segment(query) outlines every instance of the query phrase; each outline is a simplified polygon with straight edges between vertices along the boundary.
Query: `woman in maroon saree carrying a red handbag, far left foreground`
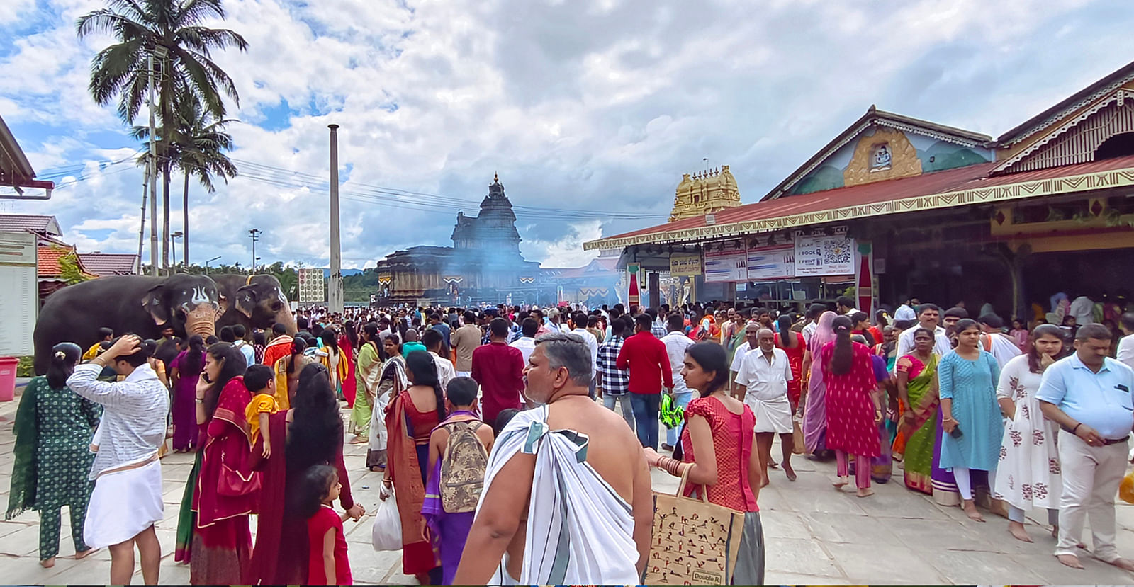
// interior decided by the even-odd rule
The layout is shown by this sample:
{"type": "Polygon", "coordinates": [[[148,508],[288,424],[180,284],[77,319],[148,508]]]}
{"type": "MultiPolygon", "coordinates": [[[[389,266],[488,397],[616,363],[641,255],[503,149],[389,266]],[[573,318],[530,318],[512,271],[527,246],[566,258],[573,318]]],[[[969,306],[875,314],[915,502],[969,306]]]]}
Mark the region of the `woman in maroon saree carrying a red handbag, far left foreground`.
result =
{"type": "Polygon", "coordinates": [[[209,347],[197,382],[201,469],[193,492],[196,513],[189,582],[240,582],[252,554],[248,514],[255,509],[260,475],[248,468],[252,394],[244,385],[244,354],[228,342],[209,347]]]}

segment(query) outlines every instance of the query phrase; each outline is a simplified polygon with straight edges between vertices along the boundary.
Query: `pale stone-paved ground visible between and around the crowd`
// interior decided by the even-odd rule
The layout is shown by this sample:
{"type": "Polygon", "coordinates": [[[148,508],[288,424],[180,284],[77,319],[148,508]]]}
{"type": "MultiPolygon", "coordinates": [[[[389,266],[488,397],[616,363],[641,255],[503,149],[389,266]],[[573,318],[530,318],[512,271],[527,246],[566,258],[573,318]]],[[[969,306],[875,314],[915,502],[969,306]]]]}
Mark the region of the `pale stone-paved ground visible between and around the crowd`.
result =
{"type": "MultiPolygon", "coordinates": [[[[0,504],[8,503],[12,463],[12,418],[16,402],[0,403],[0,504]]],[[[778,448],[775,451],[778,453],[778,448]]],[[[355,499],[367,512],[379,503],[380,474],[364,469],[365,449],[348,445],[347,467],[355,499]]],[[[1060,565],[1051,555],[1055,541],[1039,526],[1029,525],[1034,544],[1013,539],[1007,521],[989,517],[970,521],[959,508],[941,508],[921,494],[906,491],[899,476],[875,485],[875,495],[857,499],[839,493],[829,483],[832,463],[794,459],[798,480],[788,483],[773,471],[772,484],[760,494],[767,544],[769,584],[1131,584],[1134,576],[1091,559],[1086,570],[1060,565]]],[[[172,454],[162,460],[166,519],[158,526],[162,546],[161,582],[187,584],[188,568],[174,562],[177,508],[192,459],[172,454]]],[[[676,479],[654,471],[654,490],[674,492],[676,479]]],[[[1119,502],[1118,546],[1134,556],[1134,505],[1119,502]]],[[[53,569],[37,564],[37,514],[27,512],[0,521],[0,582],[81,584],[109,580],[110,555],[103,550],[74,560],[67,516],[64,542],[53,569]]],[[[1046,518],[1043,518],[1046,519],[1046,518]]],[[[358,584],[414,584],[401,575],[400,553],[374,552],[370,545],[371,516],[346,522],[350,567],[358,584]]],[[[253,530],[254,531],[254,530],[253,530]]],[[[135,582],[141,582],[141,572],[135,582]]]]}

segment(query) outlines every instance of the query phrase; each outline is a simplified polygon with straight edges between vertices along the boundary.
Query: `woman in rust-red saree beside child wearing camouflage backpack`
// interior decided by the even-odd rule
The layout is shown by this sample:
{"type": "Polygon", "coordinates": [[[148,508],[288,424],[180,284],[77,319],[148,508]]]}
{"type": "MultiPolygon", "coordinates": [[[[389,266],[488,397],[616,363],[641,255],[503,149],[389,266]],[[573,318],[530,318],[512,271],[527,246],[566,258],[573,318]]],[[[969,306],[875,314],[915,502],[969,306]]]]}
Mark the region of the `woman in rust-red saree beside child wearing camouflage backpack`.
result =
{"type": "MultiPolygon", "coordinates": [[[[429,465],[429,439],[445,419],[445,395],[438,382],[433,356],[415,350],[406,356],[409,389],[398,394],[386,412],[389,434],[384,490],[393,487],[401,518],[401,571],[417,577],[422,585],[440,585],[442,575],[433,546],[425,537],[425,474],[429,465]]],[[[383,491],[381,499],[387,497],[383,491]]]]}

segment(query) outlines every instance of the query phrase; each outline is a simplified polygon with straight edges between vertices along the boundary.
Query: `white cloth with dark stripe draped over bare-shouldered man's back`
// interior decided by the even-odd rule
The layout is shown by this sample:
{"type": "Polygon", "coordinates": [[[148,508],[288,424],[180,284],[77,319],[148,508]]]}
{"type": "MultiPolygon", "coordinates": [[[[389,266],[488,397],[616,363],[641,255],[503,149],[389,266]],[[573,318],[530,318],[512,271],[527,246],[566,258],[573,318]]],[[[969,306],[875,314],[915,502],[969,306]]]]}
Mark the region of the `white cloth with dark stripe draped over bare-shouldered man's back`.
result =
{"type": "MultiPolygon", "coordinates": [[[[489,456],[477,511],[513,456],[535,454],[518,584],[638,584],[631,504],[586,463],[586,435],[550,431],[547,418],[547,406],[521,411],[500,433],[489,456]]],[[[501,560],[489,585],[515,582],[501,560]]]]}

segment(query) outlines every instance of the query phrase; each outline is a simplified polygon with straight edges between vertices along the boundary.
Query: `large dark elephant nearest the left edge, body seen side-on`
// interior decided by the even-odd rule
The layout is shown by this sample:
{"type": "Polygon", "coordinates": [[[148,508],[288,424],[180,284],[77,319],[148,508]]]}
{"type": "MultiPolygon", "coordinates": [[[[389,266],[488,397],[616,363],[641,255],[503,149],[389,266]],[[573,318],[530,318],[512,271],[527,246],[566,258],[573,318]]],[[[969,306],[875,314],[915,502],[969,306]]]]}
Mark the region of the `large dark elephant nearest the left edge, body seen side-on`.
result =
{"type": "Polygon", "coordinates": [[[84,281],[48,296],[33,334],[35,374],[51,363],[51,347],[75,342],[84,350],[99,341],[99,329],[159,339],[171,327],[178,337],[215,332],[220,289],[208,275],[166,278],[116,275],[84,281]]]}

